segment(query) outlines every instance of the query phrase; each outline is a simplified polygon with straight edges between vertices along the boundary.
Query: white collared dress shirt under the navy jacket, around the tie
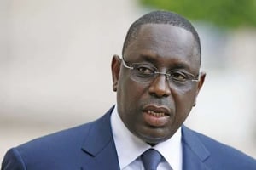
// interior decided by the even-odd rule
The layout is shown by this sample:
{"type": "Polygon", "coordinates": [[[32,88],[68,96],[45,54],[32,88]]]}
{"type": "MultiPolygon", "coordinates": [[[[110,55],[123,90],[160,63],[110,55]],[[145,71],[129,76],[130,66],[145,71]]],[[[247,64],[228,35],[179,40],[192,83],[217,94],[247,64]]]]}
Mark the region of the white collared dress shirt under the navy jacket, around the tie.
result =
{"type": "Polygon", "coordinates": [[[121,170],[144,170],[140,156],[149,148],[158,150],[164,157],[164,161],[161,161],[157,168],[158,170],[182,170],[181,128],[171,139],[152,147],[138,139],[125,127],[116,106],[111,115],[111,127],[121,170]]]}

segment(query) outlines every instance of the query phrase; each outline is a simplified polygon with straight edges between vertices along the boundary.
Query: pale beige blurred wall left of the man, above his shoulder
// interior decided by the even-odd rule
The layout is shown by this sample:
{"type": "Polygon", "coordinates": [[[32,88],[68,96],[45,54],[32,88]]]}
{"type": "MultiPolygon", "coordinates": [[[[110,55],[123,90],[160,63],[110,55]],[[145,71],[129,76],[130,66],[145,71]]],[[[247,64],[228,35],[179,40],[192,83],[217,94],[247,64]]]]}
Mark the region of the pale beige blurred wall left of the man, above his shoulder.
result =
{"type": "Polygon", "coordinates": [[[115,103],[110,72],[139,15],[131,0],[0,1],[0,160],[115,103]]]}

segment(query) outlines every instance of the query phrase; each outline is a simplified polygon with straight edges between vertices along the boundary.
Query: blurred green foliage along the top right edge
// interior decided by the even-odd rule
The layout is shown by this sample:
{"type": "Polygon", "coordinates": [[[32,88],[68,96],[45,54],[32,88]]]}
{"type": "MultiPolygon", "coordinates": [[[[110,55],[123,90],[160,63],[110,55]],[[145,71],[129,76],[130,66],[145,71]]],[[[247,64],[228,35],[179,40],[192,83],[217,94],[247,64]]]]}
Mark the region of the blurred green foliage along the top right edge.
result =
{"type": "Polygon", "coordinates": [[[171,10],[190,20],[225,28],[256,27],[256,0],[139,0],[149,8],[171,10]]]}

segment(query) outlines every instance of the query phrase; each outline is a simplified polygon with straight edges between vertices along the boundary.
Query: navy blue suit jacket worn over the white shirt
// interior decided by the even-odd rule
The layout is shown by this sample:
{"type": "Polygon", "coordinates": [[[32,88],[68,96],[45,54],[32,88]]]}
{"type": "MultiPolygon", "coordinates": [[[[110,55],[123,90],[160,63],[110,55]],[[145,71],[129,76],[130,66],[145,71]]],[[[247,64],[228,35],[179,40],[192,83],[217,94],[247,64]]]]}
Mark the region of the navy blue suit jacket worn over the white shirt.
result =
{"type": "MultiPolygon", "coordinates": [[[[111,112],[95,122],[34,139],[9,150],[1,169],[119,170],[110,126],[111,112]]],[[[256,169],[256,160],[252,157],[184,126],[182,143],[183,170],[256,169]]]]}

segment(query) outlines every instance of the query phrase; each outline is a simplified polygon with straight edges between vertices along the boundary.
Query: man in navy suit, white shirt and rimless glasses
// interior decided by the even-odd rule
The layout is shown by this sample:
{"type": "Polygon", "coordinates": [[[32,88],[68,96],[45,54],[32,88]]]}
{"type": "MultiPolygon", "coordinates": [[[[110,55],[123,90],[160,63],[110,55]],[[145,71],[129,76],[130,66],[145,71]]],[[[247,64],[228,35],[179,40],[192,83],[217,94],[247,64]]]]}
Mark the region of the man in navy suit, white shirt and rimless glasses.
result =
{"type": "Polygon", "coordinates": [[[122,58],[113,56],[117,105],[95,122],[9,150],[2,169],[256,169],[252,157],[183,126],[206,77],[200,66],[200,39],[188,20],[143,15],[122,58]]]}

